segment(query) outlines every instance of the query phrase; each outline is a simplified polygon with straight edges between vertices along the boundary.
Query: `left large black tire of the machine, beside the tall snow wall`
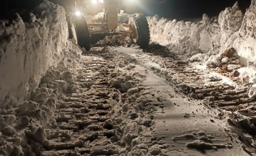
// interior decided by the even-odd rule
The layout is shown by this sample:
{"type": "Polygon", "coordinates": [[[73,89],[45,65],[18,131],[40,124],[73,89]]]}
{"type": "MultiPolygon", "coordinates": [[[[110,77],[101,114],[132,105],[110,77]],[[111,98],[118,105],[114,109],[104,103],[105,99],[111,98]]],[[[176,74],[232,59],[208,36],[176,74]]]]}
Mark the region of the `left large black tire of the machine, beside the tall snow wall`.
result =
{"type": "Polygon", "coordinates": [[[91,35],[84,15],[75,16],[73,23],[75,25],[77,44],[89,51],[91,49],[91,35]]]}

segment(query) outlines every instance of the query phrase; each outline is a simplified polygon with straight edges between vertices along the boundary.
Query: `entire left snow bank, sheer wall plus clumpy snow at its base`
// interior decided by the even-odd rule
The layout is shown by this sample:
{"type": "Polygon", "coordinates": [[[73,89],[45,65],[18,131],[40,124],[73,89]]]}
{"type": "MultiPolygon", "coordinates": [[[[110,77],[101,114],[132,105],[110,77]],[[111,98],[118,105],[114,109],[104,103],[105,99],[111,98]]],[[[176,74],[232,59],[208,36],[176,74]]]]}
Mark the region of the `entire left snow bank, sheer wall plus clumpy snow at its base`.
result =
{"type": "Polygon", "coordinates": [[[77,71],[82,51],[68,41],[64,9],[44,1],[36,12],[39,18],[30,14],[29,23],[16,14],[8,26],[0,25],[1,156],[45,151],[60,99],[90,86],[73,83],[86,71],[77,71]]]}

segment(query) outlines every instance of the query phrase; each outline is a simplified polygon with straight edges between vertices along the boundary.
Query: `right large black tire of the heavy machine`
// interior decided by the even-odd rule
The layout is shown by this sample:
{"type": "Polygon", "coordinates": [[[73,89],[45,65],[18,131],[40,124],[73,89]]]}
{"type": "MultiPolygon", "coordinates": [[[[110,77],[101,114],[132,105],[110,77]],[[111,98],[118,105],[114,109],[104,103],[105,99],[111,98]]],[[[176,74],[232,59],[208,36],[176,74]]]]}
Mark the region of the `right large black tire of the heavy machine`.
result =
{"type": "MultiPolygon", "coordinates": [[[[140,46],[140,48],[147,48],[150,41],[149,25],[147,18],[142,13],[136,13],[130,16],[129,24],[135,26],[137,32],[136,37],[132,37],[132,40],[140,46]]],[[[136,33],[135,32],[135,33],[136,33]]]]}

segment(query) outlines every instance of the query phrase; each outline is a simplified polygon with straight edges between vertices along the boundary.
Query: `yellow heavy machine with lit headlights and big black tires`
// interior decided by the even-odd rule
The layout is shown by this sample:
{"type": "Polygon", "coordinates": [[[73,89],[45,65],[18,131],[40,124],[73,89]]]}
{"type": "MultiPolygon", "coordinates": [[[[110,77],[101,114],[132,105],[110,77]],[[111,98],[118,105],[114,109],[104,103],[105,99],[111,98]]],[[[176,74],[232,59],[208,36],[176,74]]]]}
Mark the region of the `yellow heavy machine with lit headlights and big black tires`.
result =
{"type": "Polygon", "coordinates": [[[146,48],[150,40],[146,17],[144,14],[136,13],[130,16],[128,23],[119,24],[120,3],[120,0],[75,0],[75,9],[69,9],[67,13],[69,38],[75,39],[79,46],[89,51],[92,34],[127,34],[140,48],[146,48]],[[102,11],[102,19],[87,23],[85,15],[94,15],[102,11]]]}

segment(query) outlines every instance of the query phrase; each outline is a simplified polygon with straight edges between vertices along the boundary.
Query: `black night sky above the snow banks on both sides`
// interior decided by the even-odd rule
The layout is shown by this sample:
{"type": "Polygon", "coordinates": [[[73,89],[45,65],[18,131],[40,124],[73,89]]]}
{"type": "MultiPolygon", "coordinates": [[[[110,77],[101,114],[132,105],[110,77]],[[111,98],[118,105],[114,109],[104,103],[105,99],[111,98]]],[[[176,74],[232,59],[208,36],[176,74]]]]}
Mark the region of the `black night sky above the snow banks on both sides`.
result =
{"type": "MultiPolygon", "coordinates": [[[[1,2],[16,4],[16,6],[35,5],[42,0],[1,0],[1,2]],[[19,3],[15,3],[19,2],[19,3]]],[[[142,12],[153,16],[158,14],[165,18],[202,18],[204,13],[211,17],[218,16],[226,7],[232,7],[237,0],[121,0],[122,8],[126,13],[142,12]],[[160,3],[163,2],[164,3],[160,3]]],[[[2,3],[3,4],[3,3],[2,3]]],[[[238,0],[240,9],[245,12],[251,0],[238,0]]],[[[11,8],[9,6],[9,8],[11,8]]],[[[5,5],[0,5],[0,16],[5,13],[5,5]]],[[[0,17],[1,18],[1,17],[0,17]]]]}

